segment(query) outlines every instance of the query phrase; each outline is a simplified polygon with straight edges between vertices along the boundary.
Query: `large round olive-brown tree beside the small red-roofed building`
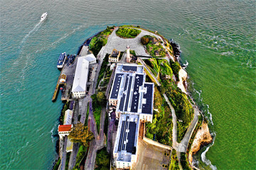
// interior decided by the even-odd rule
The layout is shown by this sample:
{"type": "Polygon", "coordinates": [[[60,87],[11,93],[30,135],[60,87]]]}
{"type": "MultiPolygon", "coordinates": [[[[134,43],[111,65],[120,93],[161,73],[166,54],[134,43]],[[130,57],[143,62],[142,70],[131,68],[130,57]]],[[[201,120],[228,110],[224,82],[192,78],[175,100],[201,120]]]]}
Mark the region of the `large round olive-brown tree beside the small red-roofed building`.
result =
{"type": "Polygon", "coordinates": [[[88,146],[88,142],[93,140],[94,135],[88,129],[87,126],[82,125],[82,123],[76,124],[73,128],[71,128],[70,134],[68,135],[72,142],[80,142],[85,147],[88,146]]]}

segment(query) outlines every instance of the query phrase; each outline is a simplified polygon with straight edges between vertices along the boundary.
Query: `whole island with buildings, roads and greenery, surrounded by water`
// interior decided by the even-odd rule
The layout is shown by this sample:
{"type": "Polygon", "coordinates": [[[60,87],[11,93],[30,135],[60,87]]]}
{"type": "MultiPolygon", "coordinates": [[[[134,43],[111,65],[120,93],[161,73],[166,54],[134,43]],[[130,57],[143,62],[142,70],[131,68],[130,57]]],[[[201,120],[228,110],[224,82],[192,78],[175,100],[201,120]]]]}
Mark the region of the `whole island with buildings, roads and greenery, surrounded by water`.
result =
{"type": "Polygon", "coordinates": [[[212,142],[186,91],[174,40],[139,26],[112,26],[60,54],[64,106],[53,169],[197,169],[212,142]]]}

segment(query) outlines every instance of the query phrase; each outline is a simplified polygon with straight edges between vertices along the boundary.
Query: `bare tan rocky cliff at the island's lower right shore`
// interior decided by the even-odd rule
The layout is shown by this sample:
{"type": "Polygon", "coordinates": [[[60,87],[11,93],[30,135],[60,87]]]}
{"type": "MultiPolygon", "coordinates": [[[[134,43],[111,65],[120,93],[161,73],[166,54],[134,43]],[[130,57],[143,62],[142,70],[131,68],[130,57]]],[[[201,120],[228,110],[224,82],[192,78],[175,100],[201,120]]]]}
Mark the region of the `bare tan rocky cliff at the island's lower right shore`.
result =
{"type": "Polygon", "coordinates": [[[198,132],[196,132],[196,137],[193,140],[191,150],[188,154],[188,160],[191,165],[193,164],[193,154],[196,154],[201,147],[208,145],[212,141],[213,137],[210,135],[208,125],[207,123],[203,123],[198,132]]]}

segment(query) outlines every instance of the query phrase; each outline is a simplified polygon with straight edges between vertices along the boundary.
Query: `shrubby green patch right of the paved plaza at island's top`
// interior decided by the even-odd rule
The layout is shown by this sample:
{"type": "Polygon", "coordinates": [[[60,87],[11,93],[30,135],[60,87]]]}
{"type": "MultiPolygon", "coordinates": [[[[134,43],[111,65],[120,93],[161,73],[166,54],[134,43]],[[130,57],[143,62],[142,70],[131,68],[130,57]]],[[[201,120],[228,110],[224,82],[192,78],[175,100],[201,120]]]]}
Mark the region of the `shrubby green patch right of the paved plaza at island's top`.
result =
{"type": "Polygon", "coordinates": [[[146,50],[152,57],[166,57],[166,51],[161,45],[161,40],[151,35],[144,35],[141,38],[141,42],[146,45],[146,50]]]}

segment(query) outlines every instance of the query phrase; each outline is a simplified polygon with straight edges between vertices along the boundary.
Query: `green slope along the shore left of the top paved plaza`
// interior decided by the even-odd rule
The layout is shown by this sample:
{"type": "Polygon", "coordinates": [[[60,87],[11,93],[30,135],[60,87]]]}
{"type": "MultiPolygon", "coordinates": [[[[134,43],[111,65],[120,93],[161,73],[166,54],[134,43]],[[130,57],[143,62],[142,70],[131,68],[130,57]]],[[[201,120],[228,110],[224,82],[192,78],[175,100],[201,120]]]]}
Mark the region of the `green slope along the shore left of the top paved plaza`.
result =
{"type": "Polygon", "coordinates": [[[107,26],[107,29],[103,30],[97,36],[92,38],[89,47],[90,50],[92,50],[93,55],[97,56],[97,54],[100,52],[100,49],[107,44],[107,38],[113,32],[113,30],[114,26],[107,26]]]}

